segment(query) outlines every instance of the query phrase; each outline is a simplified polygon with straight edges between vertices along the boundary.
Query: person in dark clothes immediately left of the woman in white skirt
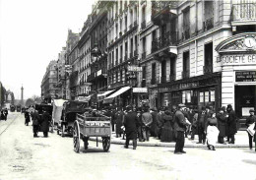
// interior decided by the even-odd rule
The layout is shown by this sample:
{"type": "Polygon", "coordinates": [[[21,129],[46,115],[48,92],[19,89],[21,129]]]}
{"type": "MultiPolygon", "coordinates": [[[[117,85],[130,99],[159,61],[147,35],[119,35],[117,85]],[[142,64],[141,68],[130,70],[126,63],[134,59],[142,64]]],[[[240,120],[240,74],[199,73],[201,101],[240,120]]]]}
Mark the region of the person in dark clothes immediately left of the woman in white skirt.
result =
{"type": "Polygon", "coordinates": [[[198,115],[198,123],[197,123],[197,133],[199,142],[197,144],[206,143],[206,134],[205,134],[205,118],[206,118],[206,108],[202,107],[202,111],[198,115]]]}

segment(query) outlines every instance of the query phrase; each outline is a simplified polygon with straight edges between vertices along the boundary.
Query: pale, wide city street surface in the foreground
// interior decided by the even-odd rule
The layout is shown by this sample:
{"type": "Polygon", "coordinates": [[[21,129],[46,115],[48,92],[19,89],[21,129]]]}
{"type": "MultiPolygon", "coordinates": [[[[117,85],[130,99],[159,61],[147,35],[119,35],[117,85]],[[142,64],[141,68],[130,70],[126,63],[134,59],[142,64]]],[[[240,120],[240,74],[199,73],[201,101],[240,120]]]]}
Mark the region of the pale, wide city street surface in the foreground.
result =
{"type": "MultiPolygon", "coordinates": [[[[73,179],[256,179],[256,152],[248,149],[185,149],[111,145],[104,152],[99,143],[89,150],[73,150],[73,139],[54,132],[49,138],[32,138],[32,123],[24,115],[9,113],[0,121],[0,180],[73,179]]],[[[81,141],[81,145],[82,145],[81,141]]]]}

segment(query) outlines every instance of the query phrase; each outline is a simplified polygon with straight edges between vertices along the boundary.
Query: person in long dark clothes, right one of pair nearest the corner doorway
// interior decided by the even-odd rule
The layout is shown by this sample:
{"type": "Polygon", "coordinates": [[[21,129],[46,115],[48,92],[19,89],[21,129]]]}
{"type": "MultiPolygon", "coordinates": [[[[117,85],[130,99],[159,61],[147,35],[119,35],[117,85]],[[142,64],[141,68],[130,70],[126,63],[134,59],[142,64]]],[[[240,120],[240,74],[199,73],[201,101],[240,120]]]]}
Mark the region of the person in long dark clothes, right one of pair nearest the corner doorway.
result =
{"type": "Polygon", "coordinates": [[[232,109],[232,105],[228,104],[226,107],[226,112],[227,112],[227,120],[226,120],[226,125],[227,125],[227,136],[231,139],[228,144],[234,144],[234,135],[236,134],[236,118],[235,118],[235,113],[232,109]]]}

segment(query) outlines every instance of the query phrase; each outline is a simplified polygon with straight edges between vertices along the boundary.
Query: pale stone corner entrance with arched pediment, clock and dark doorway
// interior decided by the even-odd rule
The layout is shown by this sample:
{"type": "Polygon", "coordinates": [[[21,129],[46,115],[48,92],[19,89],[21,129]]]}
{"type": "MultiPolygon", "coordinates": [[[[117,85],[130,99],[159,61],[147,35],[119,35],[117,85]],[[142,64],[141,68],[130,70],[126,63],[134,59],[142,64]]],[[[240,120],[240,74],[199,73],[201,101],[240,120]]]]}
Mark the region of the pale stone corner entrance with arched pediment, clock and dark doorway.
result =
{"type": "Polygon", "coordinates": [[[216,50],[222,61],[222,104],[231,104],[244,126],[249,109],[256,109],[256,33],[233,35],[216,50]]]}

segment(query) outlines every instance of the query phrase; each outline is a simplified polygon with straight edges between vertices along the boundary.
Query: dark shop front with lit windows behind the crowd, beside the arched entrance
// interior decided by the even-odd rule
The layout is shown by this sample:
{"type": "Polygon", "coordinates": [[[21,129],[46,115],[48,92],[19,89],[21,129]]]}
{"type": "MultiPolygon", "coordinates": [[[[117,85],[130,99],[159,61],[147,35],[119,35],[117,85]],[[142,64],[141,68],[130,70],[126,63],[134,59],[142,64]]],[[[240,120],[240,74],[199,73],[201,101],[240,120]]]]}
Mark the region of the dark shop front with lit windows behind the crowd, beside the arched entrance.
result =
{"type": "Polygon", "coordinates": [[[221,73],[202,75],[187,80],[178,80],[159,85],[160,106],[179,103],[193,109],[209,105],[213,110],[221,106],[221,73]]]}

